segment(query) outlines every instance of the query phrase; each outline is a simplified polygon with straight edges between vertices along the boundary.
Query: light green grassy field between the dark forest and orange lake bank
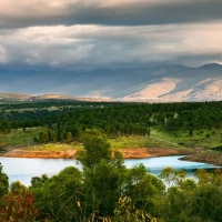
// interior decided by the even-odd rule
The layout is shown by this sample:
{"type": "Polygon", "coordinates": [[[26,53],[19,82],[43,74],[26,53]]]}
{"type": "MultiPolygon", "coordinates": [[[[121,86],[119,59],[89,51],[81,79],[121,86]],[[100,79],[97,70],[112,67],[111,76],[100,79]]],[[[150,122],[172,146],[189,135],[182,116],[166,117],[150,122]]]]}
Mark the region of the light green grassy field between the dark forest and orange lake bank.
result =
{"type": "MultiPolygon", "coordinates": [[[[38,138],[39,132],[44,128],[19,129],[12,130],[10,133],[0,134],[1,147],[23,145],[26,149],[39,150],[65,150],[80,149],[82,143],[73,141],[70,144],[49,143],[37,145],[33,142],[38,138]]],[[[158,129],[151,129],[151,135],[129,135],[109,139],[112,149],[124,148],[214,148],[222,144],[222,131],[220,130],[202,130],[194,131],[190,137],[188,132],[167,133],[158,129]]]]}

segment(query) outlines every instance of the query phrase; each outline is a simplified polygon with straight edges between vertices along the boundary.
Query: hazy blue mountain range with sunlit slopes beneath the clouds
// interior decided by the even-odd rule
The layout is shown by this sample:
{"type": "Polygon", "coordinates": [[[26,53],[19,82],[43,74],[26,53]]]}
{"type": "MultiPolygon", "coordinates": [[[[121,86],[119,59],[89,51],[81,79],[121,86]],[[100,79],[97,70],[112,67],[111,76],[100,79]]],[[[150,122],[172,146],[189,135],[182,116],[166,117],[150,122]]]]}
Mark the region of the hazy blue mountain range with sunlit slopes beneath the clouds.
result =
{"type": "Polygon", "coordinates": [[[0,65],[0,97],[118,101],[211,101],[222,98],[222,65],[74,70],[0,65]]]}

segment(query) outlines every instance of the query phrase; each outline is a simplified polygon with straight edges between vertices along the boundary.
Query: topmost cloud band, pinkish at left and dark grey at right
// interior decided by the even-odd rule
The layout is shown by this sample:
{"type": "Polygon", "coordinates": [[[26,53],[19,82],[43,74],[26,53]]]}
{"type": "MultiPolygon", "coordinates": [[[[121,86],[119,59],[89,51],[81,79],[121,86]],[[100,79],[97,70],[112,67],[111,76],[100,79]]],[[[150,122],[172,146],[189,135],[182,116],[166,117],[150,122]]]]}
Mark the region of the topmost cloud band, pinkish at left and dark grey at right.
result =
{"type": "Polygon", "coordinates": [[[220,0],[0,0],[0,28],[150,26],[216,21],[220,0]]]}

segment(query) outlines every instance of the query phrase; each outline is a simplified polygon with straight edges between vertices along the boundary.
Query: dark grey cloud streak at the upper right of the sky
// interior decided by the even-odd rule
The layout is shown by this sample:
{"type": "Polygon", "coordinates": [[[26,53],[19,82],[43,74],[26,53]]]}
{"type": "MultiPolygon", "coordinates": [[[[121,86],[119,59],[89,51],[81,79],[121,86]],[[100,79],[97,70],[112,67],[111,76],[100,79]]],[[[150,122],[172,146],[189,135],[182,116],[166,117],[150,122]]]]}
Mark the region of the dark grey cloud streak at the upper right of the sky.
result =
{"type": "Polygon", "coordinates": [[[168,23],[190,23],[222,20],[222,1],[161,1],[130,3],[119,7],[80,8],[70,6],[63,20],[67,24],[93,23],[104,26],[148,26],[168,23]]]}

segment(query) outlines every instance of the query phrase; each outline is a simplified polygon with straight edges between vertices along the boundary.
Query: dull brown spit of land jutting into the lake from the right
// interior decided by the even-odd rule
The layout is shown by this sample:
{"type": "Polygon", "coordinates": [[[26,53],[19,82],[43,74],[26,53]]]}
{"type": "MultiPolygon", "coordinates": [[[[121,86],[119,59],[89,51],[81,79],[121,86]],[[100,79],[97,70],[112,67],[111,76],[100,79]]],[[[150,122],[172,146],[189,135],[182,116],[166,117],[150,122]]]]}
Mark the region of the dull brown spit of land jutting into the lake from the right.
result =
{"type": "Polygon", "coordinates": [[[215,165],[222,167],[222,153],[193,153],[190,155],[186,155],[184,158],[181,158],[181,160],[185,161],[193,161],[193,162],[203,162],[203,163],[210,163],[215,165]]]}

